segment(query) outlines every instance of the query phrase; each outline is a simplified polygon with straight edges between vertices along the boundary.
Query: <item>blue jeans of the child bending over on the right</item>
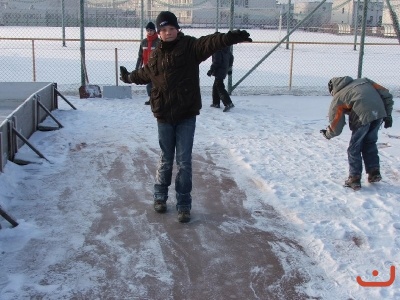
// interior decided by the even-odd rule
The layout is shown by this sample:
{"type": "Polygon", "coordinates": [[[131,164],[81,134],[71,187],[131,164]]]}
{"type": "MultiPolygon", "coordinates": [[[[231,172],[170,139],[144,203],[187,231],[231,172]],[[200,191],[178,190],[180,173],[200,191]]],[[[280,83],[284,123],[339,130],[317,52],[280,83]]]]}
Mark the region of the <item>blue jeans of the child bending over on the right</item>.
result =
{"type": "Polygon", "coordinates": [[[352,132],[349,148],[347,148],[350,176],[361,176],[363,160],[367,173],[374,169],[379,169],[376,142],[378,141],[378,130],[381,124],[382,119],[378,119],[352,132]]]}

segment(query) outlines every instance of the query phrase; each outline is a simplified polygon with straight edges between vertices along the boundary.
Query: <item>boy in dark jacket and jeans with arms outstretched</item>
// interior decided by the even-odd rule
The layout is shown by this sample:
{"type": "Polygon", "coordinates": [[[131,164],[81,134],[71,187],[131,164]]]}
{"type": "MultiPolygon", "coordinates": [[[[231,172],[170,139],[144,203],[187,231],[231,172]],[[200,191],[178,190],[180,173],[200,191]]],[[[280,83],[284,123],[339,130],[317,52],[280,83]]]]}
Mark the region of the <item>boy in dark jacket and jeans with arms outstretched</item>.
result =
{"type": "Polygon", "coordinates": [[[176,16],[161,12],[156,19],[160,44],[150,54],[147,65],[129,73],[121,66],[126,83],[153,83],[150,105],[157,118],[160,160],[154,184],[154,210],[167,210],[168,188],[176,156],[176,209],[179,222],[190,221],[192,207],[192,149],[196,116],[202,107],[199,65],[214,52],[227,46],[251,42],[245,30],[214,33],[200,38],[179,31],[176,16]]]}

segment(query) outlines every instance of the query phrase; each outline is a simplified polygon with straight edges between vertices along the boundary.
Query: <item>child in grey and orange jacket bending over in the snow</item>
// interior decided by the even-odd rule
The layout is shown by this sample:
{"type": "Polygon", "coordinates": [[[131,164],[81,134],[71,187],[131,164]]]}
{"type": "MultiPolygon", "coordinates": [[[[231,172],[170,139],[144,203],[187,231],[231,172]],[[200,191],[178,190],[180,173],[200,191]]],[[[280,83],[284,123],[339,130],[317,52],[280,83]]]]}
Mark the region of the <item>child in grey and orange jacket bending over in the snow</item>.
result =
{"type": "Polygon", "coordinates": [[[341,134],[348,115],[352,131],[347,149],[349,177],[346,187],[361,188],[362,163],[368,174],[368,182],[382,179],[380,173],[378,130],[392,127],[393,96],[389,91],[368,78],[353,79],[350,76],[335,77],[328,83],[333,96],[329,108],[329,126],[321,130],[325,138],[331,139],[341,134]]]}

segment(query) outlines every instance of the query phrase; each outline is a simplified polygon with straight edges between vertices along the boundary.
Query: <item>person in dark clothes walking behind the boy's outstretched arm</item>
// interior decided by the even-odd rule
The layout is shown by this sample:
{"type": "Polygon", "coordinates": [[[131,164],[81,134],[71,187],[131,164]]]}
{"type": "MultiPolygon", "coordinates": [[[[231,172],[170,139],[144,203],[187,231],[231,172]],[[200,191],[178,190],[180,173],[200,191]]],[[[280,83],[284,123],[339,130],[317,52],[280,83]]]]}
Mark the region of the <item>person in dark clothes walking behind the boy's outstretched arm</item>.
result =
{"type": "Polygon", "coordinates": [[[220,107],[220,100],[224,104],[224,112],[234,107],[231,97],[225,89],[224,79],[226,75],[232,74],[233,54],[230,47],[215,52],[212,55],[212,64],[207,72],[208,76],[214,76],[214,84],[212,90],[213,103],[211,107],[220,107]]]}

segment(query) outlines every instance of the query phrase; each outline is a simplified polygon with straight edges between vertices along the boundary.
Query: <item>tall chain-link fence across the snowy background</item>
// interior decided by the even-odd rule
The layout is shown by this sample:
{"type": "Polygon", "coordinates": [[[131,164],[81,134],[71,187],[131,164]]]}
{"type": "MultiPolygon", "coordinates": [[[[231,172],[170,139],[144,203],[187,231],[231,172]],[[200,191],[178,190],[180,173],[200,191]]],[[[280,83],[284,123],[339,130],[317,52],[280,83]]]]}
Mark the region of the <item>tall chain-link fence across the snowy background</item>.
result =
{"type": "MultiPolygon", "coordinates": [[[[134,69],[145,34],[143,24],[155,22],[160,11],[171,10],[186,35],[200,37],[230,28],[250,32],[253,43],[233,47],[235,63],[228,82],[234,95],[327,95],[331,77],[356,78],[361,70],[362,77],[372,78],[398,97],[399,41],[385,4],[367,2],[363,16],[362,2],[361,6],[348,0],[322,2],[292,1],[289,5],[268,0],[92,0],[83,2],[84,13],[80,14],[78,0],[3,0],[0,81],[56,82],[60,92],[77,95],[82,78],[83,16],[89,82],[123,85],[116,67],[134,69]],[[364,33],[363,18],[367,24],[364,33]],[[327,65],[327,56],[337,63],[327,65]]],[[[398,11],[400,1],[391,2],[398,11]]],[[[204,92],[210,92],[213,84],[206,76],[210,65],[209,59],[200,66],[204,92]]],[[[146,93],[145,86],[133,85],[132,91],[146,93]]]]}

